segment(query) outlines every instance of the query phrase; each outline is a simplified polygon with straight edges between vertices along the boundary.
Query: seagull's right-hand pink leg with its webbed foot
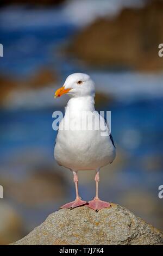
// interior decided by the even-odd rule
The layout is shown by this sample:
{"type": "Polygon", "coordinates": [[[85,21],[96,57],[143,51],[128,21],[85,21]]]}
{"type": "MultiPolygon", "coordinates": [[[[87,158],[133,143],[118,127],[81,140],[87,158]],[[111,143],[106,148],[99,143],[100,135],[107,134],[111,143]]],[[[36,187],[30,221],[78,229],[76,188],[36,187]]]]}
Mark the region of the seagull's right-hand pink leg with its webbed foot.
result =
{"type": "Polygon", "coordinates": [[[89,207],[97,212],[103,208],[109,208],[109,207],[111,207],[111,205],[108,202],[104,202],[104,201],[100,200],[98,197],[99,169],[96,171],[95,181],[96,181],[96,197],[92,201],[89,202],[87,207],[89,207]]]}

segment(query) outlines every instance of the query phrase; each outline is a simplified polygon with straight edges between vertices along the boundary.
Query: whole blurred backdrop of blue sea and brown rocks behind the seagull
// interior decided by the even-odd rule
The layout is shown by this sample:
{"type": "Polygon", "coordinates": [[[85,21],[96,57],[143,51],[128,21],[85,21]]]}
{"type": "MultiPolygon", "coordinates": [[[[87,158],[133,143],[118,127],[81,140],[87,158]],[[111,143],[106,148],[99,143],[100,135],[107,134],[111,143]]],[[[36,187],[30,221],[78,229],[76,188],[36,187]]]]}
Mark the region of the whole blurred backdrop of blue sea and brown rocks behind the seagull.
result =
{"type": "MultiPolygon", "coordinates": [[[[99,195],[163,230],[163,2],[1,1],[0,244],[28,234],[74,200],[72,173],[53,158],[54,100],[67,75],[96,82],[96,109],[111,111],[114,163],[99,195]]],[[[79,192],[95,196],[95,173],[79,172],[79,192]]]]}

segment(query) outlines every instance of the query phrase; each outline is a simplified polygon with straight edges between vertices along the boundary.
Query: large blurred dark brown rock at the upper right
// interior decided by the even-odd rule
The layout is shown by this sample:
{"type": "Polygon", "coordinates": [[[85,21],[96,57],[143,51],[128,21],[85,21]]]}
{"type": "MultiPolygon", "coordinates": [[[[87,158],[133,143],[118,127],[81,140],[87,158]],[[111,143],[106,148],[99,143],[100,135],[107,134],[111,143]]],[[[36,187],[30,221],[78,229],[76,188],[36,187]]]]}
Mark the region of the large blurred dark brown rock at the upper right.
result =
{"type": "Polygon", "coordinates": [[[123,9],[114,19],[98,19],[74,38],[70,52],[100,68],[162,70],[158,46],[163,42],[163,2],[147,3],[123,9]]]}

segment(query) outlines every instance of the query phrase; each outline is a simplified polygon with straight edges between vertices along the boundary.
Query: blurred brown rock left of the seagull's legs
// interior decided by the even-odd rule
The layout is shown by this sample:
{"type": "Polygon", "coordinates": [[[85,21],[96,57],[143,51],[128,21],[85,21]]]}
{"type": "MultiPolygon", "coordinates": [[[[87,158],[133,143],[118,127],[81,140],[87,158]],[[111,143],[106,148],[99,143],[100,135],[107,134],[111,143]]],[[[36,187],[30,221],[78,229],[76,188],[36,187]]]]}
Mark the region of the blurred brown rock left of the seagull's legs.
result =
{"type": "Polygon", "coordinates": [[[7,197],[26,206],[58,202],[66,196],[67,186],[62,174],[53,170],[34,172],[29,178],[6,182],[7,197]]]}

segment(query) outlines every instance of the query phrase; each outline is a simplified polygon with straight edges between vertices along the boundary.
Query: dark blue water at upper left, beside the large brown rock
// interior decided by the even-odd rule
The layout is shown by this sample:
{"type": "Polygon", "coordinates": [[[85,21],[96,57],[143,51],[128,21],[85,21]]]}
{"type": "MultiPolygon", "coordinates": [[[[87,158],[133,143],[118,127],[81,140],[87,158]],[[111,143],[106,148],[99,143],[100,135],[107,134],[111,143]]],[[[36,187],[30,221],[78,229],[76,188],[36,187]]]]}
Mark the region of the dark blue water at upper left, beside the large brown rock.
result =
{"type": "Polygon", "coordinates": [[[44,31],[1,31],[1,43],[4,46],[3,61],[0,62],[1,72],[12,75],[29,75],[40,66],[51,65],[55,70],[61,68],[55,47],[67,40],[74,33],[72,26],[59,26],[44,31]]]}

